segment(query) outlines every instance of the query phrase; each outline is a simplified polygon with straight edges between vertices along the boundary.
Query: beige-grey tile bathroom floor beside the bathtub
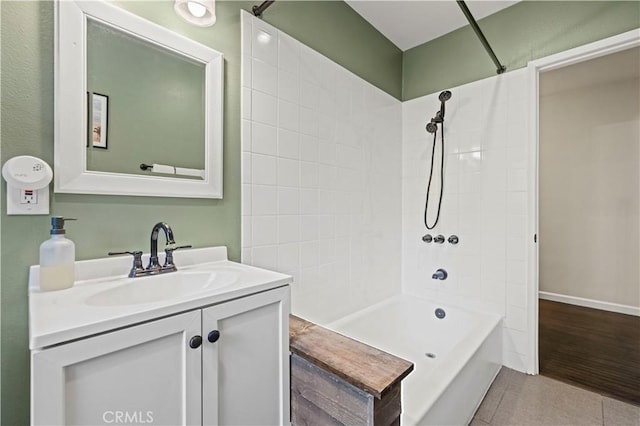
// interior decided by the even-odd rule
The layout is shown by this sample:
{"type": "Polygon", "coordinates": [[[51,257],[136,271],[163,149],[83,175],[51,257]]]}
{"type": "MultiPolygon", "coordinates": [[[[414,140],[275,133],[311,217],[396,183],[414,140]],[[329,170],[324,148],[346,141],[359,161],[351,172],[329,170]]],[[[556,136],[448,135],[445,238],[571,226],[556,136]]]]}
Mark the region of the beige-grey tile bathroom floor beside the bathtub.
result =
{"type": "Polygon", "coordinates": [[[640,426],[640,407],[502,367],[471,425],[640,426]]]}

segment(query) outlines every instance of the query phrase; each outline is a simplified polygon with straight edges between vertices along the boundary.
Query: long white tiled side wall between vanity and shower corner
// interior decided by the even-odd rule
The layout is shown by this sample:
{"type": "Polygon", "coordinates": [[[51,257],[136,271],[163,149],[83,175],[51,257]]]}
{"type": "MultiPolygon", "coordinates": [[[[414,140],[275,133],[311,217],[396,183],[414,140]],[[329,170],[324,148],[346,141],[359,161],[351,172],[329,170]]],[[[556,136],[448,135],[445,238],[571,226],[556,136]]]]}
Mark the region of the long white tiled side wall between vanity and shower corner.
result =
{"type": "Polygon", "coordinates": [[[400,292],[401,103],[242,14],[242,260],[328,322],[400,292]]]}

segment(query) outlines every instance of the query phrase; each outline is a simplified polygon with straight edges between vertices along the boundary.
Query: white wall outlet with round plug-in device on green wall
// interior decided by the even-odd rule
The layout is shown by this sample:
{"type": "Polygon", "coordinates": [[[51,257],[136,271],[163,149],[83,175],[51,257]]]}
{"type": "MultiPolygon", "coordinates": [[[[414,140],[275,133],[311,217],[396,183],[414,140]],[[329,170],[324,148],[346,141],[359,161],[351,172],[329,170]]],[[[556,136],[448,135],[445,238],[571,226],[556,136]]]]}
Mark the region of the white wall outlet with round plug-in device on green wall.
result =
{"type": "Polygon", "coordinates": [[[51,167],[30,155],[13,157],[2,166],[7,181],[7,214],[49,214],[51,167]]]}

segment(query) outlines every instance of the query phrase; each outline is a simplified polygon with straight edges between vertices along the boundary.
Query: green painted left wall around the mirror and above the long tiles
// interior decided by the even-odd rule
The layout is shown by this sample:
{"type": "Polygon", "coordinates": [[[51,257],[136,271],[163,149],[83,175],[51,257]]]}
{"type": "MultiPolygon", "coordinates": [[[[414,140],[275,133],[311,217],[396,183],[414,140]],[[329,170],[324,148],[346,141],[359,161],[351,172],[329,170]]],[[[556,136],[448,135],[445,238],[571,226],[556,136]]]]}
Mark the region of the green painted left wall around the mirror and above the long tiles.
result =
{"type": "MultiPolygon", "coordinates": [[[[78,218],[68,236],[78,259],[109,250],[148,250],[156,221],[171,224],[179,243],[226,245],[240,258],[240,10],[259,3],[216,2],[218,21],[196,28],[173,2],[121,2],[122,7],[207,44],[225,55],[224,199],[134,198],[52,194],[51,213],[78,218]]],[[[2,2],[1,161],[35,155],[53,162],[53,3],[2,2]]],[[[265,21],[307,43],[397,98],[402,53],[342,2],[278,1],[265,21]]],[[[5,183],[2,182],[5,189],[5,183]]],[[[4,199],[2,200],[4,205],[4,199]]],[[[3,425],[29,422],[28,266],[48,237],[48,217],[7,216],[1,226],[1,357],[3,425]]]]}

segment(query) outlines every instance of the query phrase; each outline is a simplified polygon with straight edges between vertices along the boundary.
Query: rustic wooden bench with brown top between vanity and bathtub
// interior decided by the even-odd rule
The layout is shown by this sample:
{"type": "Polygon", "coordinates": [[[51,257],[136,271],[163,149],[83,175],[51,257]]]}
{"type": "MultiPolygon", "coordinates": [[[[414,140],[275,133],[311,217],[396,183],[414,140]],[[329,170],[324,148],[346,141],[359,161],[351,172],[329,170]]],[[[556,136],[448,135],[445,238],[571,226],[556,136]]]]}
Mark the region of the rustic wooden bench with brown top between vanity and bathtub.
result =
{"type": "Polygon", "coordinates": [[[413,363],[290,315],[293,425],[400,424],[413,363]]]}

